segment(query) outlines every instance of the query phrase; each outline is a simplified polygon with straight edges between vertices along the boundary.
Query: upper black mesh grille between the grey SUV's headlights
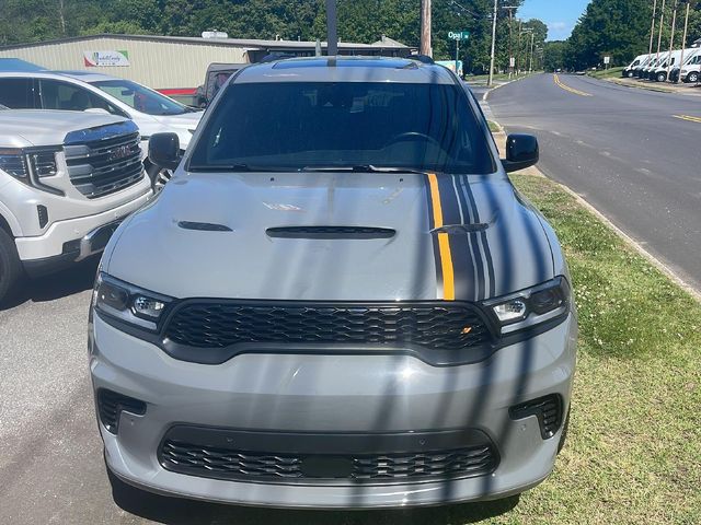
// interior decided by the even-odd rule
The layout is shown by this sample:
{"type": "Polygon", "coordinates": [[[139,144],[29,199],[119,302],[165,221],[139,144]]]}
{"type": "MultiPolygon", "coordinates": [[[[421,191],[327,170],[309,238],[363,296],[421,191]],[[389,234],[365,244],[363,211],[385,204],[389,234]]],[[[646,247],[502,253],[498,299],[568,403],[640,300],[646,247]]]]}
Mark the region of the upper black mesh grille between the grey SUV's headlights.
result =
{"type": "Polygon", "coordinates": [[[171,341],[196,348],[238,343],[420,346],[462,350],[491,340],[468,305],[285,305],[185,303],[165,328],[171,341]]]}

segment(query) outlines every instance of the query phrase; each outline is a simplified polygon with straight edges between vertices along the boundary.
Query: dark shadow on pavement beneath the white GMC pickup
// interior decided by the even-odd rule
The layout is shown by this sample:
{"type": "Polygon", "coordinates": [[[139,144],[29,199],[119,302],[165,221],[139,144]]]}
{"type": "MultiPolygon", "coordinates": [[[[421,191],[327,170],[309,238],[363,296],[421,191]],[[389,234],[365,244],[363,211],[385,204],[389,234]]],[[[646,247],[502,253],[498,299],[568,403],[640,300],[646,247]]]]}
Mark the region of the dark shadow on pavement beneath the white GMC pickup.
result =
{"type": "Polygon", "coordinates": [[[0,303],[0,312],[20,306],[28,301],[43,303],[90,290],[95,281],[99,264],[100,256],[94,256],[56,273],[38,279],[24,278],[12,295],[0,303]]]}

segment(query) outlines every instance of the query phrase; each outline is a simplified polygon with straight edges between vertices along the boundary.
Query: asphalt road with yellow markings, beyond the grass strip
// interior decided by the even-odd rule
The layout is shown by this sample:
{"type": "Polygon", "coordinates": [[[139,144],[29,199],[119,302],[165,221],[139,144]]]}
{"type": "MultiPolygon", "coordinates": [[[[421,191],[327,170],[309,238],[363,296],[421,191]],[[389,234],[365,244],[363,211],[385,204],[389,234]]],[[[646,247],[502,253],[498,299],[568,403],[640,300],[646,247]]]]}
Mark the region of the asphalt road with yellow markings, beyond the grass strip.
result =
{"type": "Polygon", "coordinates": [[[489,101],[508,132],[538,137],[549,177],[701,290],[701,97],[540,74],[489,101]]]}

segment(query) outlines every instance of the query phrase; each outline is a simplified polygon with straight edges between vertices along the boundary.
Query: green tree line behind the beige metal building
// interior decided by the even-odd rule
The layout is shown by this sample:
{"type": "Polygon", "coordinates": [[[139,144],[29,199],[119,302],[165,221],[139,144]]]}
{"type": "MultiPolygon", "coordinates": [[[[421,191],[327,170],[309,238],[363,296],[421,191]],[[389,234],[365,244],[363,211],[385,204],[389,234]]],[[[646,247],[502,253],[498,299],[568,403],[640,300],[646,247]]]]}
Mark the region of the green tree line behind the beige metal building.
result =
{"type": "MultiPolygon", "coordinates": [[[[518,8],[522,2],[507,3],[518,8]]],[[[369,44],[387,35],[418,47],[420,8],[421,0],[337,0],[338,37],[369,44]]],[[[433,0],[434,58],[453,59],[455,42],[448,33],[469,31],[459,59],[467,72],[486,72],[492,10],[492,0],[433,0]]],[[[0,46],[99,33],[199,36],[211,30],[233,38],[313,42],[325,38],[325,15],[324,0],[0,0],[0,46]]],[[[508,11],[498,10],[498,70],[508,68],[509,43],[527,69],[528,30],[533,31],[536,48],[547,38],[541,21],[517,18],[518,11],[509,22],[508,11]]]]}

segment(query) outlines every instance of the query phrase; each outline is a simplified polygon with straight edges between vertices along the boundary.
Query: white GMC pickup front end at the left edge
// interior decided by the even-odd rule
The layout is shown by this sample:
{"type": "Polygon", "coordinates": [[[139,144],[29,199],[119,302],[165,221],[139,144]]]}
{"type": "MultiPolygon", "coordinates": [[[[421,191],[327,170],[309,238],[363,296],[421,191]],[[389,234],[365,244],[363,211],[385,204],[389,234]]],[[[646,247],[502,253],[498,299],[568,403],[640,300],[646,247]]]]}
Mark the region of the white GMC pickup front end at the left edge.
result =
{"type": "Polygon", "coordinates": [[[0,302],[101,252],[151,198],[139,143],[124,117],[0,106],[0,302]]]}

